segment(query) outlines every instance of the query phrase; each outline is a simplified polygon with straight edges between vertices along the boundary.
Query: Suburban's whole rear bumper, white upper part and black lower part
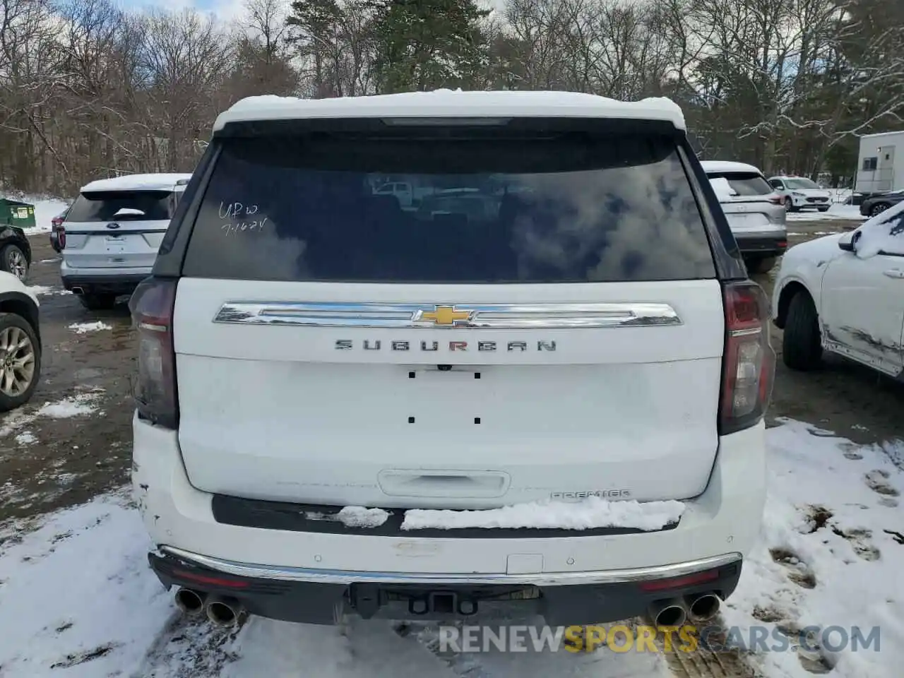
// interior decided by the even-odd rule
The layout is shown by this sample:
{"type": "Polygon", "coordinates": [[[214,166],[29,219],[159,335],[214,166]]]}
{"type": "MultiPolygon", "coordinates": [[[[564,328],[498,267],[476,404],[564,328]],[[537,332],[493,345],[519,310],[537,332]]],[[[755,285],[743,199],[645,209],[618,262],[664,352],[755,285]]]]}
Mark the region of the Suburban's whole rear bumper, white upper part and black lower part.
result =
{"type": "Polygon", "coordinates": [[[716,578],[696,588],[727,596],[737,582],[739,560],[758,538],[765,498],[760,423],[720,438],[706,490],[686,502],[676,527],[660,532],[494,539],[455,538],[452,532],[447,538],[423,538],[413,532],[396,537],[263,529],[217,522],[214,495],[189,482],[174,431],[139,419],[133,429],[136,501],[157,544],[151,560],[165,585],[229,593],[254,614],[295,621],[332,622],[340,602],[364,614],[367,608],[354,602],[353,589],[366,593],[371,585],[373,595],[399,603],[402,613],[405,595],[398,587],[413,587],[412,595],[453,587],[463,595],[498,598],[500,590],[536,586],[539,598],[522,596],[516,602],[539,606],[551,624],[560,613],[574,624],[643,612],[664,592],[643,590],[637,577],[662,579],[668,572],[717,567],[716,578]],[[192,579],[197,573],[201,579],[192,579]],[[230,578],[248,583],[222,583],[230,578]],[[273,598],[263,592],[268,587],[273,598]],[[315,609],[315,601],[323,607],[315,609]]]}

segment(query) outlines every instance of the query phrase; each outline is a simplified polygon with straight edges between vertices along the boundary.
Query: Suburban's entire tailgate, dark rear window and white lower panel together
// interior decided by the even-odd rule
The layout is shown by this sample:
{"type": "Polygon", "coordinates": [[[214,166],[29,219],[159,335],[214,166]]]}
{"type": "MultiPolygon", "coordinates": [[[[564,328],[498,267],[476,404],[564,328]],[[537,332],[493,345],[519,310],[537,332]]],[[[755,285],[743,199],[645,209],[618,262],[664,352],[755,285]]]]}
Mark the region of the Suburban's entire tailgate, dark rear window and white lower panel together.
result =
{"type": "Polygon", "coordinates": [[[720,282],[674,138],[638,125],[217,139],[174,308],[193,485],[449,508],[702,492],[720,282]],[[387,180],[444,207],[403,211],[372,194],[387,180]]]}

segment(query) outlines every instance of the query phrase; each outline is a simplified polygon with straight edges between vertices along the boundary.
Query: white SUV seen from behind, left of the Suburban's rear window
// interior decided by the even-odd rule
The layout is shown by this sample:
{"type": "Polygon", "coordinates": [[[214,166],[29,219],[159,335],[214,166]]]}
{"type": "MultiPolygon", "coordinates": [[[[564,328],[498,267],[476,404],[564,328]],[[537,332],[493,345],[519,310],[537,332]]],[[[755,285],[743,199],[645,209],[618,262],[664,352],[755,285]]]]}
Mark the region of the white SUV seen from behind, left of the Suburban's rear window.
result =
{"type": "Polygon", "coordinates": [[[151,274],[191,174],[130,174],[83,186],[57,228],[63,287],[110,308],[151,274]]]}

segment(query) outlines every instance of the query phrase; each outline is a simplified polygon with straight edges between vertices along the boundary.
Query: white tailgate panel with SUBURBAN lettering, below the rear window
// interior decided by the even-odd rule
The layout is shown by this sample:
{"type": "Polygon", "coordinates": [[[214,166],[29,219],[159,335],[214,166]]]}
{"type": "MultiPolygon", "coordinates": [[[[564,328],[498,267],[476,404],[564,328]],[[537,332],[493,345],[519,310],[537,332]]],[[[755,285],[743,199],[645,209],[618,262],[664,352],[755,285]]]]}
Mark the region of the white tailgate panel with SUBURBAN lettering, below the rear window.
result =
{"type": "Polygon", "coordinates": [[[223,324],[213,322],[221,307],[241,299],[427,307],[455,299],[468,307],[500,298],[485,286],[278,282],[258,283],[250,295],[231,281],[186,278],[174,325],[192,327],[175,335],[175,351],[179,440],[193,484],[252,498],[386,507],[702,492],[719,444],[718,282],[679,282],[667,292],[656,283],[505,291],[510,304],[665,304],[682,325],[395,329],[280,325],[260,316],[223,324]],[[338,341],[353,348],[337,350],[338,341]],[[422,342],[438,350],[420,350],[422,342]],[[450,342],[467,345],[450,351],[450,342]],[[477,350],[478,342],[496,350],[477,350]],[[538,342],[555,350],[537,350],[538,342]],[[403,345],[409,350],[392,350],[403,345]]]}

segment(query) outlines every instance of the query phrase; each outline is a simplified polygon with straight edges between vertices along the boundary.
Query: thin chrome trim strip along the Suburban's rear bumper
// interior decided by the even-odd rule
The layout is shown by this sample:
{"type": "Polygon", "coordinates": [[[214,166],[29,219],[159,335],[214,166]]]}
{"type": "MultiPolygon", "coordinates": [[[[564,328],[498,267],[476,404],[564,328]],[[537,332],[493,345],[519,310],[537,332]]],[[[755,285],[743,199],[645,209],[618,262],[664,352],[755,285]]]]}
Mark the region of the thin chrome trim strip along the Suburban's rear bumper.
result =
{"type": "Polygon", "coordinates": [[[533,586],[573,586],[579,584],[619,584],[650,579],[683,577],[702,570],[712,570],[741,561],[740,553],[725,553],[720,556],[654,565],[647,568],[627,568],[622,570],[596,570],[589,572],[537,572],[530,574],[458,574],[430,572],[364,572],[359,570],[315,570],[309,568],[286,568],[274,565],[252,565],[250,563],[221,560],[202,556],[191,551],[161,546],[163,556],[173,556],[189,563],[201,565],[224,574],[250,579],[278,579],[280,581],[307,581],[321,584],[354,584],[358,582],[385,584],[524,584],[533,586]]]}

